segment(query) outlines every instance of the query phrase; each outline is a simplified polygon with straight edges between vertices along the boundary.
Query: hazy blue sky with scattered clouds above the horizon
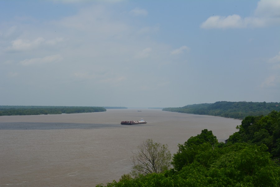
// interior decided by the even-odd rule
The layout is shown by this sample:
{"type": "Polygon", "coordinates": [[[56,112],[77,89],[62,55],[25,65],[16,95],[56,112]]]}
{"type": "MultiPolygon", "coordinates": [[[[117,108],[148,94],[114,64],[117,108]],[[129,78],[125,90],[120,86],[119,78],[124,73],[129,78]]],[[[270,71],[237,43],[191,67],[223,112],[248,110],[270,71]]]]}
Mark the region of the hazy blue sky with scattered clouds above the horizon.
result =
{"type": "Polygon", "coordinates": [[[0,105],[280,102],[279,0],[0,0],[0,105]]]}

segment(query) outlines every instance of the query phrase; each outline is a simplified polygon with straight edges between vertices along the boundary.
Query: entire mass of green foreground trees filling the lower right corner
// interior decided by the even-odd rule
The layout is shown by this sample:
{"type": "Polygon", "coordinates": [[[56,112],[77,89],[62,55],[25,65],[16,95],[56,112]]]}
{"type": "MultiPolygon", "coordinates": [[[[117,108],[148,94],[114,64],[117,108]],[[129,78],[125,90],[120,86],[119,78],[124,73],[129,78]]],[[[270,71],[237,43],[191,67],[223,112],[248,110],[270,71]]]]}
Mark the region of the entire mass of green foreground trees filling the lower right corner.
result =
{"type": "Polygon", "coordinates": [[[238,129],[226,144],[204,129],[178,145],[174,168],[135,178],[123,175],[107,187],[280,186],[280,166],[272,158],[280,150],[280,112],[248,116],[238,129]]]}

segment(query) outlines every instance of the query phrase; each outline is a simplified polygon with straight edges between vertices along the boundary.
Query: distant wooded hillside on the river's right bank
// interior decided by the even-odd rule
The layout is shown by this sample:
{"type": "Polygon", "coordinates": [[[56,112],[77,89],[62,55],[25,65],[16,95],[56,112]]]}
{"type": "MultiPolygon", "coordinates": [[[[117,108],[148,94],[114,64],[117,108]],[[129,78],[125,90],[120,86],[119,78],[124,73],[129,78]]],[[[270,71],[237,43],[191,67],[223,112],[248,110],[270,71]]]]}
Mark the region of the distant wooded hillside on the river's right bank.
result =
{"type": "Polygon", "coordinates": [[[244,119],[246,116],[267,115],[272,110],[280,110],[280,103],[266,102],[228,102],[186,105],[179,108],[164,108],[164,111],[201,114],[244,119]]]}

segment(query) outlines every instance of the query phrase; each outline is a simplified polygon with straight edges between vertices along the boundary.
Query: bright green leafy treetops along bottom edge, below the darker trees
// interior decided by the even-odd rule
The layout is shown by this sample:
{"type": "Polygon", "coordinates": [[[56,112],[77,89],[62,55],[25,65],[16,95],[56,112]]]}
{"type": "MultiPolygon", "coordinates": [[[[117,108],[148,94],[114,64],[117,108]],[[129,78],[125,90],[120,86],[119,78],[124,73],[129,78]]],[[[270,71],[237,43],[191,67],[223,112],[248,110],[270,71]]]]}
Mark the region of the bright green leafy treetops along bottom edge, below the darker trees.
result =
{"type": "Polygon", "coordinates": [[[264,144],[235,143],[216,146],[214,150],[210,143],[194,146],[197,153],[193,162],[180,171],[140,174],[133,179],[107,183],[107,187],[280,186],[280,167],[271,160],[264,144]]]}

